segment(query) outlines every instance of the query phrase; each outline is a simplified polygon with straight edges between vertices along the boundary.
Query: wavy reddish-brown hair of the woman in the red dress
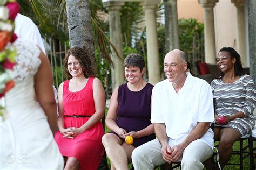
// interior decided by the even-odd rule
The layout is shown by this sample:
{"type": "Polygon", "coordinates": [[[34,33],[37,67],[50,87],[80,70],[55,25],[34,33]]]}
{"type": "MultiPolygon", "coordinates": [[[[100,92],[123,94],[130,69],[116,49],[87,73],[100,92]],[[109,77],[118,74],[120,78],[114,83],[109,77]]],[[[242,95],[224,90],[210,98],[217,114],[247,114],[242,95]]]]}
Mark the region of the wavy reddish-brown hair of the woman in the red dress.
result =
{"type": "Polygon", "coordinates": [[[73,55],[79,61],[85,78],[96,77],[95,68],[93,67],[94,65],[88,51],[85,51],[83,48],[73,47],[69,49],[63,59],[63,69],[67,79],[72,78],[68,70],[68,60],[70,55],[73,55]]]}

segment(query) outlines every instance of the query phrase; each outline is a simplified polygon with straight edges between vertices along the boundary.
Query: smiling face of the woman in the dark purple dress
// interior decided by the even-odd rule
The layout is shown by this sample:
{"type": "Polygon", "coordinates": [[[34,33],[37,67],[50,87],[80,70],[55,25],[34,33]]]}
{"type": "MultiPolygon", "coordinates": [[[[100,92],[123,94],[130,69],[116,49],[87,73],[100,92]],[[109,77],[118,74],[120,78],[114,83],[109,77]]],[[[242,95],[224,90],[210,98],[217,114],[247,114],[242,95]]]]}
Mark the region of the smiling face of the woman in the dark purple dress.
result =
{"type": "Polygon", "coordinates": [[[137,83],[138,81],[142,80],[142,75],[144,74],[144,72],[145,67],[142,69],[141,72],[139,67],[137,66],[125,67],[124,69],[125,78],[131,84],[137,83]]]}

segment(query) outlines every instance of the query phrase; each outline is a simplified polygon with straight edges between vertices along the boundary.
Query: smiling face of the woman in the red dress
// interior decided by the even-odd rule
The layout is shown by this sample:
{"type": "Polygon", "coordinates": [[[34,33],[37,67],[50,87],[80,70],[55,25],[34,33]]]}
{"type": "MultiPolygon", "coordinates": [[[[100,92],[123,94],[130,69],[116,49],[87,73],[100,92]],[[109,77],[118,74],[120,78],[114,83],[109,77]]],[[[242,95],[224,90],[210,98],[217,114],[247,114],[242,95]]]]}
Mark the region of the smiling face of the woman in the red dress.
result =
{"type": "Polygon", "coordinates": [[[83,75],[83,68],[75,56],[70,55],[68,59],[68,70],[72,77],[79,77],[83,75]]]}

